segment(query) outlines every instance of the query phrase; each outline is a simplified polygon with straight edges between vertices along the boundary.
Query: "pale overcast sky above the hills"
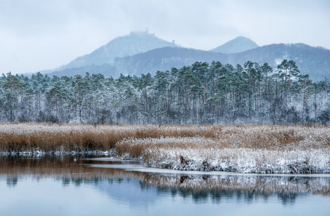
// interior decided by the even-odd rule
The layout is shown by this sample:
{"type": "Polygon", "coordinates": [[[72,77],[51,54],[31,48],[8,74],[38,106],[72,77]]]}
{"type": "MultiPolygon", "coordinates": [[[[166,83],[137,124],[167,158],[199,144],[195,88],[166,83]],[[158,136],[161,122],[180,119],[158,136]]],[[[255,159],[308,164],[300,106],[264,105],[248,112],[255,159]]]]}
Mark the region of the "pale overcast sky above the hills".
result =
{"type": "Polygon", "coordinates": [[[201,50],[236,36],[330,49],[330,1],[0,0],[0,74],[54,69],[145,28],[201,50]]]}

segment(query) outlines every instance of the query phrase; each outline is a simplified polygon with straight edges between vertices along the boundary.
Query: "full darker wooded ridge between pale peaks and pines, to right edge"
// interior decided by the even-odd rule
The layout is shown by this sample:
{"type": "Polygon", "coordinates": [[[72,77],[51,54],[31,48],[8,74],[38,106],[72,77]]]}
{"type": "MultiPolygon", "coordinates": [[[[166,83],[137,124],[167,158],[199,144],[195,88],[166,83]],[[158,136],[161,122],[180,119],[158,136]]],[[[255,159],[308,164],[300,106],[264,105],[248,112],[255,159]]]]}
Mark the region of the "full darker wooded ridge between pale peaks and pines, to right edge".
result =
{"type": "Polygon", "coordinates": [[[324,80],[330,78],[330,50],[322,47],[311,47],[303,43],[272,44],[257,47],[253,50],[235,54],[223,54],[194,50],[182,47],[162,47],[134,56],[115,58],[115,63],[109,65],[89,65],[87,67],[65,69],[61,72],[53,72],[49,76],[74,76],[76,74],[104,74],[117,78],[120,74],[155,74],[157,70],[167,70],[172,67],[191,65],[195,61],[212,63],[219,61],[223,64],[243,65],[246,61],[256,63],[269,63],[274,69],[283,59],[294,60],[302,74],[309,74],[312,80],[324,80]]]}

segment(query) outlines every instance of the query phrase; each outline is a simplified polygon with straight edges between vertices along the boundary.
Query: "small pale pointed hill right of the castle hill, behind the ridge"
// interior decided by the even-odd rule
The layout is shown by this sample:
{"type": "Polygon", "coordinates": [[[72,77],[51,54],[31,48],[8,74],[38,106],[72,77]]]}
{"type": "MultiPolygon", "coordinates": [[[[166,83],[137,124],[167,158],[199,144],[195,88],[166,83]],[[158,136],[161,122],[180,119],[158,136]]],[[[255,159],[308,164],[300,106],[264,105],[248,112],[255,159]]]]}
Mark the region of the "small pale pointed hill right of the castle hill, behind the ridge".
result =
{"type": "Polygon", "coordinates": [[[252,50],[259,45],[256,45],[251,39],[245,38],[244,36],[238,36],[236,39],[232,39],[223,45],[216,47],[210,51],[212,52],[222,52],[222,53],[236,53],[244,52],[246,50],[252,50]]]}

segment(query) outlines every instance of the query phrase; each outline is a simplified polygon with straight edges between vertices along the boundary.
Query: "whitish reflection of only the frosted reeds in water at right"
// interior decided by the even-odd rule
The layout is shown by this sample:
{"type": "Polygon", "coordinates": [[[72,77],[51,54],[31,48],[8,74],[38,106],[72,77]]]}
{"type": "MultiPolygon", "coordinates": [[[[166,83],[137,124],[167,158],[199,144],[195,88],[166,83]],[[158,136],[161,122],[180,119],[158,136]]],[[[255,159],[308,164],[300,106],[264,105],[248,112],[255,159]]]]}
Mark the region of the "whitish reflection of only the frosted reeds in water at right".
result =
{"type": "Polygon", "coordinates": [[[226,191],[239,193],[315,193],[330,195],[330,177],[278,177],[228,175],[162,175],[150,173],[143,185],[170,190],[226,191]]]}

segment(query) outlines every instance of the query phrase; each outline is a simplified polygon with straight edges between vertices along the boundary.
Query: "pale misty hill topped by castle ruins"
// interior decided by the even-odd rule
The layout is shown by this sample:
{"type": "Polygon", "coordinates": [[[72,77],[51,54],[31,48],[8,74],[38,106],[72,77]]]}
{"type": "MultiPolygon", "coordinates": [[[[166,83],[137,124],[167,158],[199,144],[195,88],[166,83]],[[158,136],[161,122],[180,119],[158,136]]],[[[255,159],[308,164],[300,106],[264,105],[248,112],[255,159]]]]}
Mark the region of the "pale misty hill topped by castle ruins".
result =
{"type": "Polygon", "coordinates": [[[146,52],[159,47],[176,47],[175,43],[170,43],[157,38],[155,34],[146,32],[131,32],[127,36],[120,36],[113,39],[106,45],[98,48],[91,54],[80,56],[67,65],[60,67],[58,70],[83,67],[87,65],[103,65],[113,63],[116,57],[131,56],[134,54],[146,52]]]}

